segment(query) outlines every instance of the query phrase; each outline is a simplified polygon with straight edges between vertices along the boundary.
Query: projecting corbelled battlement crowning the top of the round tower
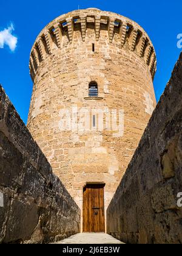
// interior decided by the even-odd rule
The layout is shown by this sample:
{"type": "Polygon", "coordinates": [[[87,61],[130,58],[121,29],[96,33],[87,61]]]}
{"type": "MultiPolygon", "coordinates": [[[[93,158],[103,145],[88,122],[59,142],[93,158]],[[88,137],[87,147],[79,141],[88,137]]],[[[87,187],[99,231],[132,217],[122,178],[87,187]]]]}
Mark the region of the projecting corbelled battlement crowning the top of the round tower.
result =
{"type": "Polygon", "coordinates": [[[74,32],[80,30],[83,42],[87,40],[87,27],[95,29],[95,41],[99,41],[101,30],[108,31],[108,41],[119,49],[135,52],[149,67],[152,79],[157,70],[155,49],[144,29],[134,21],[112,12],[98,9],[75,10],[50,22],[33,44],[30,53],[30,76],[35,79],[39,65],[56,49],[62,49],[62,38],[73,43],[74,32]],[[115,39],[115,35],[119,40],[115,39]]]}

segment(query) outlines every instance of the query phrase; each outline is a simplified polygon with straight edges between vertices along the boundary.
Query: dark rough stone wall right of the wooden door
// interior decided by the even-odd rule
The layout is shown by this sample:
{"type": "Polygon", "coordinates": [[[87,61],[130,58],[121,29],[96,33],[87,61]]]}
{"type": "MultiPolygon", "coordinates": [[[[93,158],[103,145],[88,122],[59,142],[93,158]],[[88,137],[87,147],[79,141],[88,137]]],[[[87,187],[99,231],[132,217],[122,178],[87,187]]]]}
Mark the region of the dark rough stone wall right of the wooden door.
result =
{"type": "Polygon", "coordinates": [[[182,54],[107,209],[126,243],[182,243],[182,54]]]}

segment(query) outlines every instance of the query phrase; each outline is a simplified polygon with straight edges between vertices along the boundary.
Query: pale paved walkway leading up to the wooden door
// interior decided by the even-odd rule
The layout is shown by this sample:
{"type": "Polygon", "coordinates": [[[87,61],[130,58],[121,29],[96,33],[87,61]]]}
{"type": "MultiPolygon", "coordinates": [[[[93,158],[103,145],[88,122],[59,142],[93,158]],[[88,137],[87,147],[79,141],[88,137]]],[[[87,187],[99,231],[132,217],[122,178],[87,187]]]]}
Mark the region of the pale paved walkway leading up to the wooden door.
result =
{"type": "Polygon", "coordinates": [[[56,244],[123,244],[105,233],[79,233],[56,244]]]}

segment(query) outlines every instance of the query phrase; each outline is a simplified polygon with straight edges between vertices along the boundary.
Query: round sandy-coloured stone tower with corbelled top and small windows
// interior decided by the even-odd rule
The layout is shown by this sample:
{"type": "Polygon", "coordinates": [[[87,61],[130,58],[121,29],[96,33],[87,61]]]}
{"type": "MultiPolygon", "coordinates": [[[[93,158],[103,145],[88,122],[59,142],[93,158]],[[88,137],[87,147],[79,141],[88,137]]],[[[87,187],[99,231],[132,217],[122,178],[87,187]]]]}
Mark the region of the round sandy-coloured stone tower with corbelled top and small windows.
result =
{"type": "Polygon", "coordinates": [[[82,215],[86,186],[107,210],[156,105],[156,66],[142,27],[98,9],[59,16],[33,44],[27,125],[82,215]]]}

